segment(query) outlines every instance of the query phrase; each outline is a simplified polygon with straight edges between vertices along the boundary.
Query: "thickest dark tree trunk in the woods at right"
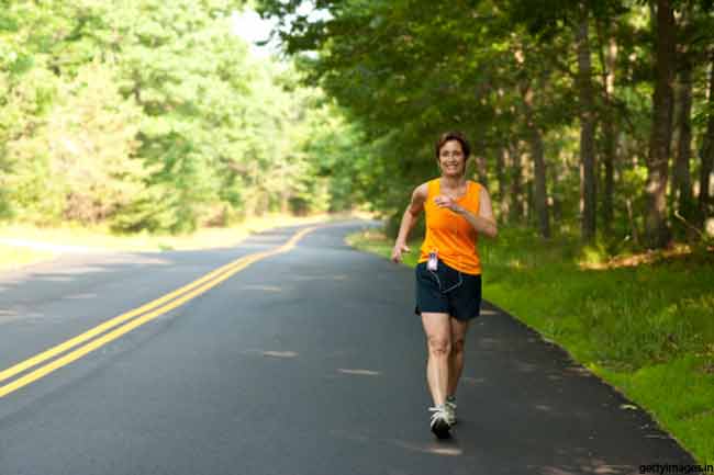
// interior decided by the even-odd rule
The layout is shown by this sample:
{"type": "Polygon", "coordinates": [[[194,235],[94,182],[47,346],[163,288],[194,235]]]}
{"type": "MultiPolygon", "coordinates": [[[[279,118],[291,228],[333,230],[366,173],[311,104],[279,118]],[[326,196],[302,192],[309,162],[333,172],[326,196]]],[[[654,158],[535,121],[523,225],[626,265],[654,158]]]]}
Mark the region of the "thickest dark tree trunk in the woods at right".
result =
{"type": "Polygon", "coordinates": [[[667,181],[672,136],[672,76],[674,65],[674,14],[671,0],[657,0],[655,93],[652,94],[652,126],[647,156],[647,212],[645,233],[647,245],[663,248],[669,242],[667,226],[667,181]]]}

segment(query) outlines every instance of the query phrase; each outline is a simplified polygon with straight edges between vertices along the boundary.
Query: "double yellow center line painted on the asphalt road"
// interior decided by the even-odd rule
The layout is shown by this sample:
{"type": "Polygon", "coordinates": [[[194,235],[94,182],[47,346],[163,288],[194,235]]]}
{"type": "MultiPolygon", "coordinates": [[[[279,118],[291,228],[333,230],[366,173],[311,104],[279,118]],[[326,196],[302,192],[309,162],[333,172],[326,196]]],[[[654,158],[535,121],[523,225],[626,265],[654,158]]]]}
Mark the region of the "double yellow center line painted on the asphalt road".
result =
{"type": "Polygon", "coordinates": [[[297,233],[294,236],[292,236],[285,245],[276,249],[272,249],[270,251],[256,252],[236,259],[233,262],[230,262],[205,274],[201,279],[198,279],[191,282],[190,284],[182,286],[181,289],[178,289],[169,294],[166,294],[163,297],[149,302],[148,304],[143,305],[138,308],[119,315],[88,331],[85,331],[83,333],[70,340],[65,341],[64,343],[57,344],[56,347],[43,351],[42,353],[35,357],[32,357],[13,366],[10,366],[7,370],[0,371],[0,384],[1,384],[3,381],[10,380],[11,377],[16,376],[18,374],[24,371],[27,371],[34,366],[45,363],[47,360],[52,360],[53,358],[62,353],[65,353],[66,351],[81,344],[79,348],[76,348],[71,352],[63,355],[62,358],[58,358],[54,361],[48,362],[47,364],[44,364],[33,370],[32,372],[25,374],[22,377],[14,380],[11,383],[5,384],[4,386],[0,386],[0,397],[4,397],[10,393],[20,389],[21,387],[24,387],[40,380],[41,377],[44,377],[47,374],[63,366],[66,366],[74,361],[79,360],[87,353],[94,351],[96,349],[109,343],[110,341],[114,341],[115,339],[120,338],[125,333],[129,333],[130,331],[132,331],[137,327],[141,327],[147,321],[150,321],[156,317],[178,307],[179,305],[185,304],[191,298],[201,295],[202,293],[207,292],[209,289],[214,287],[215,285],[231,278],[235,273],[247,268],[252,263],[266,259],[271,256],[276,256],[282,252],[288,252],[289,250],[295,247],[298,241],[304,235],[313,231],[314,229],[315,229],[314,227],[302,229],[299,233],[297,233]],[[140,315],[141,317],[134,318],[140,315]],[[93,339],[94,337],[100,335],[101,335],[100,338],[93,339]],[[87,341],[89,342],[82,344],[87,341]]]}

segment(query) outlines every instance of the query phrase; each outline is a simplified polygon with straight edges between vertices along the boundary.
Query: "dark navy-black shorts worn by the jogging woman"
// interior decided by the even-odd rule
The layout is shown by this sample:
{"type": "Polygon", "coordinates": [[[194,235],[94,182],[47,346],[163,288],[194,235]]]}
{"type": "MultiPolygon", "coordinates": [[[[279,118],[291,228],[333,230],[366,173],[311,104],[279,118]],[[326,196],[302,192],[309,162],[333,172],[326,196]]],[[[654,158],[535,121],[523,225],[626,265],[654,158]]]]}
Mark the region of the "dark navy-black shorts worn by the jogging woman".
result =
{"type": "Polygon", "coordinates": [[[438,261],[437,270],[426,269],[426,262],[416,264],[416,308],[422,312],[448,314],[466,321],[481,310],[481,275],[459,272],[438,261]]]}

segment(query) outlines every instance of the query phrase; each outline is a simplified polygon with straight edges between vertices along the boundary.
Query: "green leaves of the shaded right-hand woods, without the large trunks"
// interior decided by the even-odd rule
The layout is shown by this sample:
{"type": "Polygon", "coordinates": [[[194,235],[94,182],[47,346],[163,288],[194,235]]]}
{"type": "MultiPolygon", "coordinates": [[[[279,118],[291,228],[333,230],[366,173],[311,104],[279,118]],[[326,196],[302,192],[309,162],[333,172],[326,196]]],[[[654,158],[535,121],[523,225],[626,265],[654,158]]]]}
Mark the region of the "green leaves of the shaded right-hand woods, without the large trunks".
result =
{"type": "MultiPolygon", "coordinates": [[[[499,219],[535,225],[535,129],[545,142],[549,212],[557,226],[578,229],[583,184],[574,132],[582,114],[595,118],[596,161],[611,145],[616,155],[613,196],[603,196],[602,170],[593,186],[600,207],[612,203],[600,213],[613,219],[599,225],[606,240],[632,239],[633,222],[642,227],[642,216],[651,212],[644,186],[632,189],[628,179],[646,166],[652,127],[657,32],[646,2],[324,0],[316,3],[323,14],[301,15],[306,3],[258,1],[264,15],[281,22],[276,34],[301,58],[308,80],[320,81],[364,127],[372,154],[360,183],[386,217],[399,219],[413,188],[436,173],[431,144],[456,128],[472,142],[478,180],[487,182],[497,214],[504,212],[499,219]],[[581,103],[583,81],[577,80],[576,33],[583,21],[591,104],[581,103]]],[[[676,2],[678,14],[687,5],[676,2]]],[[[694,2],[688,25],[678,16],[680,46],[696,58],[694,148],[710,109],[705,52],[714,29],[707,9],[694,2]]]]}

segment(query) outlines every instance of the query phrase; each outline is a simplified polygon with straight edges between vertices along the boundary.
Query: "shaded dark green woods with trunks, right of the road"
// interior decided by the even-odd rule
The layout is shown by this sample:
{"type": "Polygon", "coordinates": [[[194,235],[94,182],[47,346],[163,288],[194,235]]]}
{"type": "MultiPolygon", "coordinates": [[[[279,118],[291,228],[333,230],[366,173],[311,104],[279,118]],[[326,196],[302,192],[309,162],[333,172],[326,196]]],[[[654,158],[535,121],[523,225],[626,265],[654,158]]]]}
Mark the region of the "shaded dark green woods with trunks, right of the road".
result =
{"type": "MultiPolygon", "coordinates": [[[[547,238],[705,238],[714,160],[711,1],[263,0],[287,52],[360,124],[359,189],[400,215],[464,131],[502,223],[547,238]]],[[[710,225],[711,226],[711,225],[710,225]]]]}

